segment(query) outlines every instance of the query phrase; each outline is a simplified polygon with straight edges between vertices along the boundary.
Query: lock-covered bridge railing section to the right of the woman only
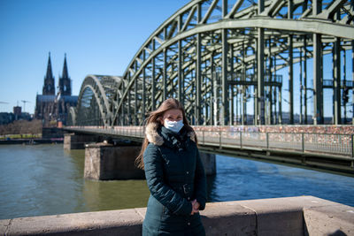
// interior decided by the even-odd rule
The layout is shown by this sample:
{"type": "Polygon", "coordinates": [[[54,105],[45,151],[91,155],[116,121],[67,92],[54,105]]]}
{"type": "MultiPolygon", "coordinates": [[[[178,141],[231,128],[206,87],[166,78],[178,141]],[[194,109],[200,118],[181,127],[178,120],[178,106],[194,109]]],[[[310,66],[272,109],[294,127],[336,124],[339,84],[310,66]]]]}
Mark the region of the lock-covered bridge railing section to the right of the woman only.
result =
{"type": "Polygon", "coordinates": [[[196,131],[202,145],[291,150],[354,158],[353,134],[196,131]]]}

